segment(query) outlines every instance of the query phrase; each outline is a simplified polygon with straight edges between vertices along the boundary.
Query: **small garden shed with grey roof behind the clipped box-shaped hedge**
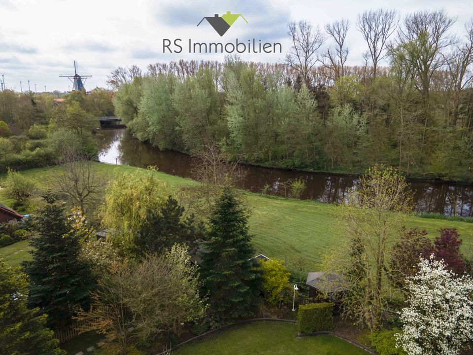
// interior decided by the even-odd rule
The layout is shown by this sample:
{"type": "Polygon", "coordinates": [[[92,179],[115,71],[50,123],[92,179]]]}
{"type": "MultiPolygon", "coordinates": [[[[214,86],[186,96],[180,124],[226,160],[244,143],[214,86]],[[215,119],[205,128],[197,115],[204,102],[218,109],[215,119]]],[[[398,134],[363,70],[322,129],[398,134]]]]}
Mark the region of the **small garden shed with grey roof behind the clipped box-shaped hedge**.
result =
{"type": "Polygon", "coordinates": [[[329,272],[312,272],[307,274],[309,286],[309,297],[315,298],[320,295],[327,295],[328,298],[334,298],[339,292],[347,291],[343,276],[329,272]]]}

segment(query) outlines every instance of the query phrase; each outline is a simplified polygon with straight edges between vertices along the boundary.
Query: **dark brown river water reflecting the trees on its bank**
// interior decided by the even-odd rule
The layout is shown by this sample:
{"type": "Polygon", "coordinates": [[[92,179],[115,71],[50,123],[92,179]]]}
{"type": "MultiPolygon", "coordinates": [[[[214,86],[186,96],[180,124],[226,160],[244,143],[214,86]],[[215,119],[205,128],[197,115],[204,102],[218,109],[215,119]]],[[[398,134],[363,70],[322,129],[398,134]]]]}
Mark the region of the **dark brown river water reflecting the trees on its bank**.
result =
{"type": "MultiPolygon", "coordinates": [[[[164,173],[192,178],[192,158],[186,154],[162,151],[134,139],[126,129],[103,130],[101,162],[137,167],[153,165],[164,173]]],[[[335,203],[341,201],[354,186],[356,178],[332,174],[291,172],[278,169],[245,167],[247,172],[239,187],[261,192],[266,184],[270,194],[284,196],[281,182],[302,178],[307,188],[303,199],[335,203]]],[[[445,215],[473,215],[473,185],[437,181],[411,181],[418,212],[437,212],[445,215]]]]}

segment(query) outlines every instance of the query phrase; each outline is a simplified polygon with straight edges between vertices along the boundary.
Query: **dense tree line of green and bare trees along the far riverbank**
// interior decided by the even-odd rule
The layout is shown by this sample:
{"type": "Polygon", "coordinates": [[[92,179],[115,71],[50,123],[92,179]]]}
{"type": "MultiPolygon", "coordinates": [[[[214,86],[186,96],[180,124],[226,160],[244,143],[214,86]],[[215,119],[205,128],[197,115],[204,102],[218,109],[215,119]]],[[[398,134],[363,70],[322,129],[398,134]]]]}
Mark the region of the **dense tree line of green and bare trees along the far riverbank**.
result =
{"type": "Polygon", "coordinates": [[[381,163],[471,180],[473,21],[457,35],[454,22],[444,10],[384,9],[355,26],[300,21],[284,63],[181,60],[119,68],[109,82],[135,137],[162,149],[217,144],[251,164],[360,173],[381,163]],[[360,66],[345,64],[349,31],[368,48],[360,66]]]}

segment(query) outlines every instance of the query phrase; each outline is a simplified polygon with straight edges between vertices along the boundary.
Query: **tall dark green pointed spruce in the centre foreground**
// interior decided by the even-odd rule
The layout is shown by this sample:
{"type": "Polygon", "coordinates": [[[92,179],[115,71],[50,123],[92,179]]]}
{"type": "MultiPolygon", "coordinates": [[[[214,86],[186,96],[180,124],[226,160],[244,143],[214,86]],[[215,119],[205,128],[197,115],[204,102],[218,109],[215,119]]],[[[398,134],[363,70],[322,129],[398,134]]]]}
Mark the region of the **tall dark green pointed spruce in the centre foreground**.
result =
{"type": "Polygon", "coordinates": [[[210,217],[201,264],[203,293],[216,321],[249,317],[260,301],[261,269],[248,233],[247,214],[235,192],[225,187],[210,217]]]}

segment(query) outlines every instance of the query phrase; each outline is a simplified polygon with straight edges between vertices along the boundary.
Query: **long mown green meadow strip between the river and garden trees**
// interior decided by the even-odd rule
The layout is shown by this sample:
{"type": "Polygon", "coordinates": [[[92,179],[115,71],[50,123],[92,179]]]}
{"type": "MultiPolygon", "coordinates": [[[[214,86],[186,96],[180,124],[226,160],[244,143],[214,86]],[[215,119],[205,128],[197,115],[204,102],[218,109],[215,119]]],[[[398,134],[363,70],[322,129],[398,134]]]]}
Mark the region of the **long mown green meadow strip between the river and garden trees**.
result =
{"type": "MultiPolygon", "coordinates": [[[[95,168],[106,179],[112,179],[118,174],[142,170],[126,165],[101,163],[95,163],[95,168]]],[[[46,188],[52,184],[51,172],[55,169],[59,168],[38,168],[22,173],[46,188]]],[[[197,183],[161,172],[155,174],[171,186],[197,183]]],[[[316,270],[317,264],[327,251],[343,245],[344,238],[338,219],[338,206],[276,196],[261,196],[250,192],[245,194],[252,208],[249,223],[257,253],[282,260],[287,258],[288,264],[302,258],[307,269],[316,270]]],[[[0,190],[0,202],[10,205],[12,201],[2,198],[0,190]]],[[[425,229],[431,238],[439,234],[440,227],[457,228],[463,239],[462,251],[469,255],[472,250],[473,223],[407,216],[405,226],[425,229]]]]}

